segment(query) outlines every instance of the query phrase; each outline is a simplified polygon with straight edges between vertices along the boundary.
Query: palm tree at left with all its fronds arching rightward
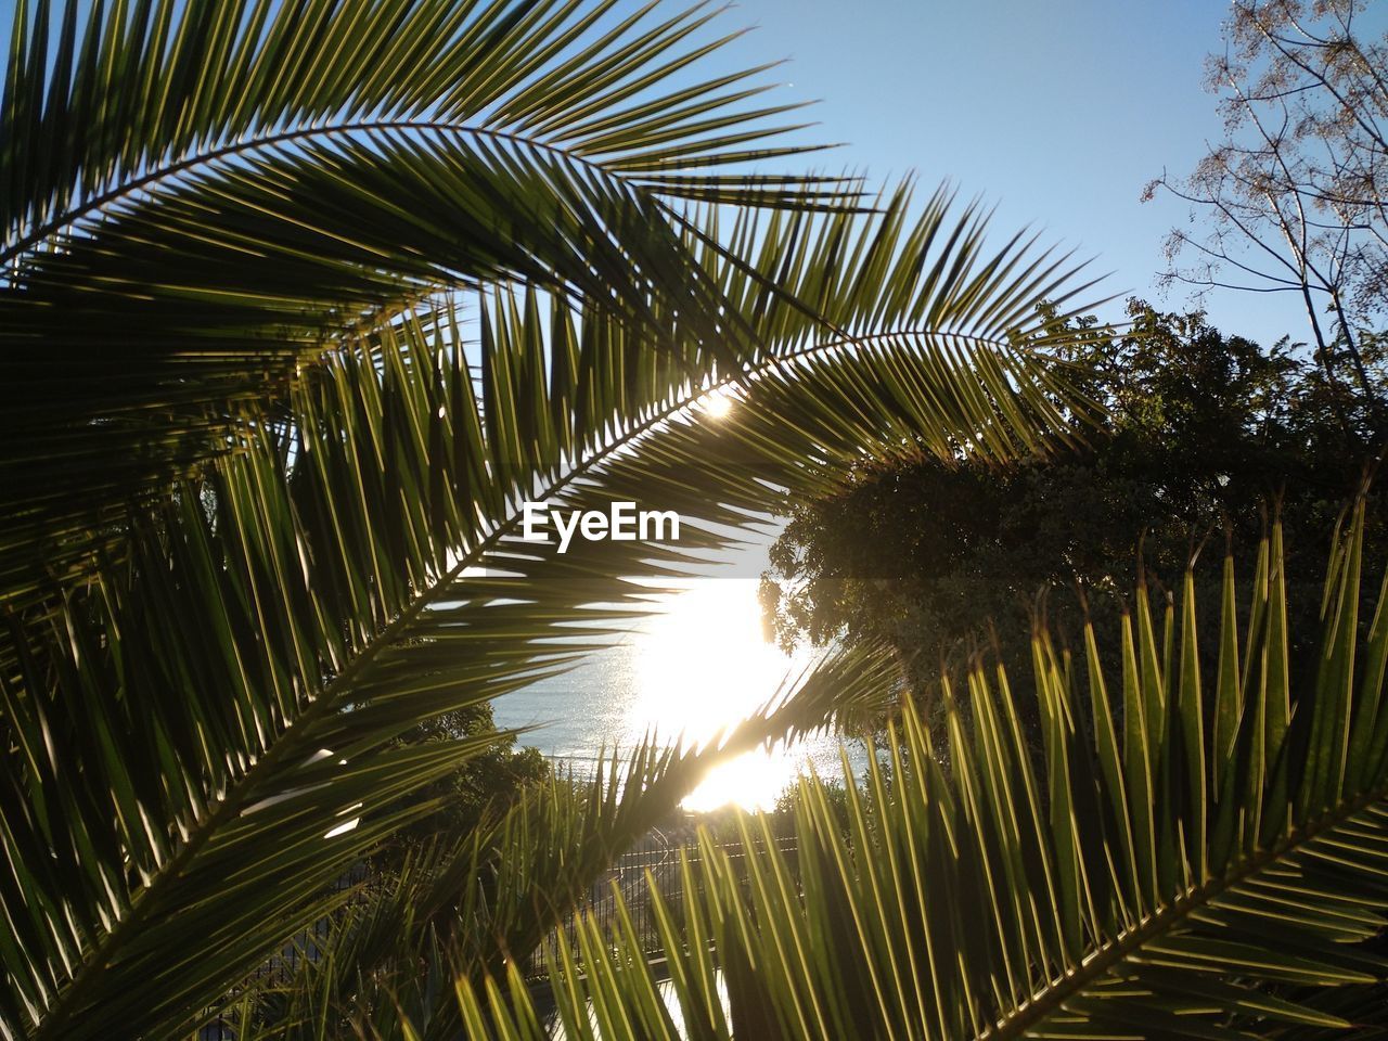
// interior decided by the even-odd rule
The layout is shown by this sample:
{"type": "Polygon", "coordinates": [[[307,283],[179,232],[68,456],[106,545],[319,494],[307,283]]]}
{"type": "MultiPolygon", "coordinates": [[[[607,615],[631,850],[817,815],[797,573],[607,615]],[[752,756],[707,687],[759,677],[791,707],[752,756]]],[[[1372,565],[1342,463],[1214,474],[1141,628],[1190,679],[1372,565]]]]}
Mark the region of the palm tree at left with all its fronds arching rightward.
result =
{"type": "MultiPolygon", "coordinates": [[[[176,1037],[258,1002],[255,969],[430,812],[409,795],[487,747],[394,738],[601,645],[650,607],[620,576],[677,573],[865,452],[1070,429],[1063,323],[1035,314],[1083,289],[1067,258],[987,248],[948,194],[756,172],[802,150],[750,104],[761,69],[690,79],[708,14],[613,7],[17,6],[7,1037],[176,1037]],[[741,403],[716,423],[715,387],[741,403]],[[559,555],[519,539],[540,498],[677,509],[683,540],[559,555]]],[[[652,744],[625,784],[421,852],[321,995],[365,995],[464,890],[484,902],[448,942],[480,980],[711,758],[891,676],[834,655],[719,748],[652,744]]]]}

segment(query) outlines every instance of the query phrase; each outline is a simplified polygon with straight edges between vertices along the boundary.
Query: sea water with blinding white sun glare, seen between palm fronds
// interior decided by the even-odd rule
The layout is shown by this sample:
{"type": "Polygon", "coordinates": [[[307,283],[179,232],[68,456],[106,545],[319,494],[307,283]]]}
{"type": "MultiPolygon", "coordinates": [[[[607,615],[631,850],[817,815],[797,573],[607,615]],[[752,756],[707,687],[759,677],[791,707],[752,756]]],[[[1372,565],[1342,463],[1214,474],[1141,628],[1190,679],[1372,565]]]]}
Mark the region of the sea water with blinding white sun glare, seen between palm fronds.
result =
{"type": "MultiPolygon", "coordinates": [[[[647,734],[702,744],[747,718],[805,668],[762,636],[756,579],[701,577],[669,595],[661,612],[633,623],[616,647],[579,668],[496,702],[504,727],[527,727],[520,743],[576,772],[601,752],[627,751],[647,734]]],[[[745,754],[716,766],[686,801],[691,811],[727,804],[775,805],[798,773],[840,777],[840,741],[819,734],[745,754]]],[[[849,743],[852,769],[865,756],[849,743]]]]}

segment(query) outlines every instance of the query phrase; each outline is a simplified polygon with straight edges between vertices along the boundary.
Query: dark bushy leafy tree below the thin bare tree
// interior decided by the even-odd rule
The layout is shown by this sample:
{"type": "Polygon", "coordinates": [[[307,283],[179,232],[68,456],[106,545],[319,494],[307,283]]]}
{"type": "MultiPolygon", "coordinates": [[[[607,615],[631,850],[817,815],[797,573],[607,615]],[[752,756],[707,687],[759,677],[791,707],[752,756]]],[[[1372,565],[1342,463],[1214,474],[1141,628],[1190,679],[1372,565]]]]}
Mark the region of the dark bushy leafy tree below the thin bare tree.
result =
{"type": "MultiPolygon", "coordinates": [[[[1153,583],[1170,582],[1206,543],[1256,544],[1277,504],[1307,550],[1284,576],[1306,612],[1292,627],[1302,657],[1319,629],[1319,547],[1371,462],[1338,422],[1362,418],[1363,401],[1285,340],[1264,351],[1203,314],[1135,300],[1128,316],[1122,336],[1088,321],[1076,330],[1085,393],[1106,409],[1084,450],[1001,465],[869,462],[838,493],[801,504],[762,591],[781,643],[886,641],[929,690],[942,665],[988,641],[992,623],[1016,632],[1041,608],[1073,643],[1085,615],[1116,622],[1127,609],[1120,593],[1140,562],[1153,583]],[[1072,597],[1038,601],[1072,586],[1083,609],[1072,597]]],[[[1366,348],[1381,380],[1377,341],[1366,348]]],[[[1377,514],[1367,537],[1378,559],[1377,514]]],[[[1026,648],[1013,652],[1010,669],[1029,668],[1026,648]]]]}

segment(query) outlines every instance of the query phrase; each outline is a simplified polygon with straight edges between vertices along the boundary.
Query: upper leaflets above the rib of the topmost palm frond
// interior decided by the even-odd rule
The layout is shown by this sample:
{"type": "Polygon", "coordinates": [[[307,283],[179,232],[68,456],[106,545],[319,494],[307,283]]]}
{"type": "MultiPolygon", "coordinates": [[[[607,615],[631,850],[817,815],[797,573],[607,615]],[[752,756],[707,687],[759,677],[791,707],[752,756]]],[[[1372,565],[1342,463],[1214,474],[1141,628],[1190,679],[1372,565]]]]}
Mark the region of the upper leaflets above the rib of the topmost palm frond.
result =
{"type": "MultiPolygon", "coordinates": [[[[0,139],[4,262],[100,222],[118,200],[208,167],[375,128],[451,126],[661,178],[662,190],[763,185],[677,175],[763,154],[748,108],[766,67],[706,82],[677,74],[740,33],[697,42],[716,14],[651,18],[604,0],[251,0],[15,6],[0,139]],[[49,147],[44,147],[47,144],[49,147]]],[[[791,105],[793,107],[793,105],[791,105]]],[[[787,128],[776,128],[784,132],[787,128]]],[[[816,182],[781,182],[809,192],[816,182]]],[[[769,190],[758,201],[776,201],[769,190]]]]}

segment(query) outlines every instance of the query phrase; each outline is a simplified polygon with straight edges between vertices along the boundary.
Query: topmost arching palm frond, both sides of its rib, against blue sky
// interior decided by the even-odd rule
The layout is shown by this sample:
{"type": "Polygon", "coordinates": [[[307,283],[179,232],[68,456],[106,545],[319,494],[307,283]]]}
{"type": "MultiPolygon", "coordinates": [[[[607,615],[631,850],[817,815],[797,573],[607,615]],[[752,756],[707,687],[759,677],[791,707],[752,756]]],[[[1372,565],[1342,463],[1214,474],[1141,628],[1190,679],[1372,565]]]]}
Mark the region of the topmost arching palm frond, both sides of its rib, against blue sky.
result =
{"type": "MultiPolygon", "coordinates": [[[[731,355],[669,200],[827,205],[758,160],[765,68],[715,12],[612,0],[15,4],[0,104],[0,589],[81,579],[304,366],[432,293],[522,279],[731,355]],[[750,86],[751,85],[751,86],[750,86]],[[669,304],[666,305],[669,310],[669,304]],[[713,333],[718,332],[718,336],[713,333]]],[[[734,33],[736,35],[736,33],[734,33]]],[[[793,105],[790,105],[793,107],[793,105]]]]}

